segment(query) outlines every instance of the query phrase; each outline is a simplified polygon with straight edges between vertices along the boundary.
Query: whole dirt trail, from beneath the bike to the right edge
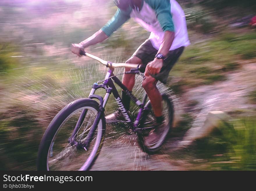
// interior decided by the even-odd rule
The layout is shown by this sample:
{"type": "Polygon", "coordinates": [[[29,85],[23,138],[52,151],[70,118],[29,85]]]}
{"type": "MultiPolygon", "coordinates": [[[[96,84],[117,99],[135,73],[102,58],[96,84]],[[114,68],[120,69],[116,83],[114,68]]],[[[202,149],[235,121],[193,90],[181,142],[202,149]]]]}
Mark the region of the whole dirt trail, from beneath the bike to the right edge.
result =
{"type": "MultiPolygon", "coordinates": [[[[255,63],[246,64],[238,71],[227,74],[226,81],[188,90],[182,100],[196,101],[198,104],[193,107],[185,107],[185,101],[180,104],[184,112],[193,113],[196,117],[186,135],[202,126],[209,111],[253,111],[255,105],[249,104],[246,96],[256,87],[255,69],[255,63]]],[[[113,131],[113,127],[112,130],[111,127],[108,129],[113,131]]],[[[170,138],[159,153],[150,156],[139,148],[135,135],[122,134],[113,139],[110,133],[108,137],[92,170],[189,170],[191,166],[185,159],[174,160],[170,157],[183,140],[182,137],[170,138]]]]}

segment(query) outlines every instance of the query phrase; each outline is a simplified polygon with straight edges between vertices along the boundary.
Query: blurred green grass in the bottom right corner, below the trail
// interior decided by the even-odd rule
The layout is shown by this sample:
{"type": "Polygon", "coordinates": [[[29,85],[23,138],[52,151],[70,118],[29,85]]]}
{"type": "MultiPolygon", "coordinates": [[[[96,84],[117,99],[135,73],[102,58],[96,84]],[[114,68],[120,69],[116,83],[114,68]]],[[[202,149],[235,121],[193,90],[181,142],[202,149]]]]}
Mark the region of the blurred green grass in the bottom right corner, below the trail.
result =
{"type": "Polygon", "coordinates": [[[211,170],[256,170],[256,121],[242,118],[221,124],[197,141],[195,152],[211,170]]]}

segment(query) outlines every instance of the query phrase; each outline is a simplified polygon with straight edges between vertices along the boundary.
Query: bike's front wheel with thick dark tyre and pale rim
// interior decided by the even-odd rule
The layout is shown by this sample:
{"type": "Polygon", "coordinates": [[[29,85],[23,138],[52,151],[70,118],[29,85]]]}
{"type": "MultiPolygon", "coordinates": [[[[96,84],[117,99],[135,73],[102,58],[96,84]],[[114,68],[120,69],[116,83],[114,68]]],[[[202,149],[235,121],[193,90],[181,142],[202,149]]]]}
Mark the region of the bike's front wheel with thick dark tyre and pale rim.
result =
{"type": "Polygon", "coordinates": [[[104,140],[104,113],[89,147],[83,148],[81,143],[88,139],[98,112],[97,101],[86,98],[73,101],[64,107],[51,121],[41,140],[38,170],[89,170],[104,140]]]}

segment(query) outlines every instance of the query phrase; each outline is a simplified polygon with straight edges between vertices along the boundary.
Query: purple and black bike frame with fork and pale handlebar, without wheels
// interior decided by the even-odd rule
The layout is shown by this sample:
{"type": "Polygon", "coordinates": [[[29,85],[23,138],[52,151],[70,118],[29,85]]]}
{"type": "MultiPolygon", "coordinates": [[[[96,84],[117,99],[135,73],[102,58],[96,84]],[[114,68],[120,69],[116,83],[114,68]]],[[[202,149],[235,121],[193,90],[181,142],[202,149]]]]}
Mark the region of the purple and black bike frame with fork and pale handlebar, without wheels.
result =
{"type": "MultiPolygon", "coordinates": [[[[145,120],[143,118],[143,113],[145,112],[145,110],[147,110],[147,111],[149,110],[149,108],[147,108],[147,106],[146,106],[147,94],[145,94],[145,97],[143,98],[143,102],[139,101],[136,97],[134,97],[134,95],[132,95],[132,93],[127,89],[127,87],[124,84],[122,84],[122,82],[115,75],[113,75],[113,70],[114,70],[115,65],[128,66],[128,67],[133,68],[135,64],[112,63],[112,62],[109,62],[109,61],[102,60],[102,59],[100,59],[96,56],[93,56],[89,53],[86,53],[84,51],[80,51],[80,54],[84,55],[84,56],[89,56],[89,57],[91,57],[95,60],[98,60],[100,63],[106,65],[106,67],[108,67],[109,70],[108,70],[108,72],[105,76],[105,79],[102,80],[102,81],[99,81],[99,82],[103,82],[102,84],[100,84],[100,85],[98,83],[93,84],[92,90],[91,90],[91,92],[89,94],[89,97],[88,97],[90,99],[98,99],[100,101],[100,105],[99,105],[99,112],[97,113],[97,115],[95,117],[93,125],[91,126],[91,129],[88,133],[87,139],[83,143],[78,143],[74,140],[74,136],[77,133],[77,131],[79,130],[79,127],[82,125],[84,117],[87,113],[87,110],[84,109],[82,111],[79,119],[78,119],[78,122],[77,122],[77,124],[74,128],[74,131],[73,131],[71,137],[68,140],[72,144],[76,144],[77,147],[82,147],[85,150],[87,150],[87,148],[88,148],[88,146],[89,146],[89,144],[90,144],[90,142],[93,138],[93,135],[95,133],[97,125],[98,125],[100,119],[102,118],[102,115],[104,115],[105,106],[106,106],[106,103],[107,103],[111,93],[113,93],[113,95],[115,97],[115,100],[116,100],[116,102],[117,102],[117,104],[118,104],[118,106],[121,110],[122,115],[124,116],[124,118],[126,120],[126,123],[128,124],[129,129],[131,130],[131,132],[137,133],[137,132],[142,132],[143,130],[153,129],[154,126],[146,127],[146,128],[139,128],[140,125],[142,123],[144,123],[144,120],[145,120]],[[131,98],[131,100],[134,101],[137,106],[139,106],[139,112],[138,112],[134,122],[132,122],[129,113],[125,109],[124,104],[122,102],[122,99],[120,98],[120,96],[118,94],[118,91],[115,88],[115,85],[114,85],[112,79],[118,86],[120,86],[120,88],[122,88],[127,93],[127,95],[131,98]],[[95,91],[99,88],[104,88],[106,90],[106,94],[105,94],[104,98],[95,94],[95,91]]],[[[119,66],[116,66],[116,67],[119,67],[119,66]]],[[[136,69],[131,69],[131,71],[125,72],[125,74],[138,74],[139,73],[138,68],[140,66],[141,65],[137,65],[136,69]]]]}

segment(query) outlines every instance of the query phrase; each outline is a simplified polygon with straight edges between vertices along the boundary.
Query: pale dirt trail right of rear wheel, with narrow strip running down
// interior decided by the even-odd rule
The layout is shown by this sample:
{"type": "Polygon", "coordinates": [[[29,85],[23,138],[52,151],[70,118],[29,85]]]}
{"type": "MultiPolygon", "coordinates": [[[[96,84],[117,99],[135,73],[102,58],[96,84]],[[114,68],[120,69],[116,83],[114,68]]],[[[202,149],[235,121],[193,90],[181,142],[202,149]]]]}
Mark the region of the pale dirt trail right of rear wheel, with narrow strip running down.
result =
{"type": "Polygon", "coordinates": [[[245,64],[241,69],[226,75],[227,80],[192,88],[184,95],[185,99],[195,101],[198,104],[186,110],[195,115],[195,120],[186,133],[184,140],[180,142],[179,147],[186,147],[187,138],[195,135],[203,126],[209,111],[221,110],[227,114],[255,115],[255,104],[249,103],[248,94],[255,90],[256,63],[245,64]]]}

